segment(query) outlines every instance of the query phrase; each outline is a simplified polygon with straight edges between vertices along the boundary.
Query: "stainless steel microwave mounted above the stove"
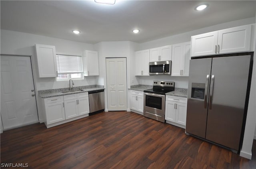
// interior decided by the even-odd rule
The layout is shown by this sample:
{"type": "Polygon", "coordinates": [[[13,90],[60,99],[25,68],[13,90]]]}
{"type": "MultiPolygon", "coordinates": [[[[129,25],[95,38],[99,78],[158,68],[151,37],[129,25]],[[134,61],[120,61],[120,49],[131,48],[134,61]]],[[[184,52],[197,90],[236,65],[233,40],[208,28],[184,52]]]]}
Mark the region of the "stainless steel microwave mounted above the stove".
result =
{"type": "Polygon", "coordinates": [[[170,75],[172,61],[158,61],[149,63],[150,75],[170,75]]]}

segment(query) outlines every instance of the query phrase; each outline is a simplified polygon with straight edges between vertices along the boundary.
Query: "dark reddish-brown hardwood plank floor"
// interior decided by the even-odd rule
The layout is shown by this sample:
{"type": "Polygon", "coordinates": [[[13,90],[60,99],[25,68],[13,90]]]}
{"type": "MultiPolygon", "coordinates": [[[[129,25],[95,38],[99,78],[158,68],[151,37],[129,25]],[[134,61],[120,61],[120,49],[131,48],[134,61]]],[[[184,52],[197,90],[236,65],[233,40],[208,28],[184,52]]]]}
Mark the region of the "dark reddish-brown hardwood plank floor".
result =
{"type": "Polygon", "coordinates": [[[133,112],[102,112],[60,126],[32,124],[1,134],[1,163],[29,168],[255,169],[248,160],[185,130],[133,112]]]}

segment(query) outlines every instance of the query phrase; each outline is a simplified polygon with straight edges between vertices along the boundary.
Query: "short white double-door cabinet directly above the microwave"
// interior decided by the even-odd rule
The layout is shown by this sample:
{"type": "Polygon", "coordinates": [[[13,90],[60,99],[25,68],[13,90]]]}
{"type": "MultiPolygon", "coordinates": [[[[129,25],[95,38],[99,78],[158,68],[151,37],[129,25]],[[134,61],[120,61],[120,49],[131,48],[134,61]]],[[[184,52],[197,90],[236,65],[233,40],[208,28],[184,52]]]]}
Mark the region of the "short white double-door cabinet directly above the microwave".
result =
{"type": "Polygon", "coordinates": [[[150,62],[172,60],[172,45],[150,49],[150,62]]]}

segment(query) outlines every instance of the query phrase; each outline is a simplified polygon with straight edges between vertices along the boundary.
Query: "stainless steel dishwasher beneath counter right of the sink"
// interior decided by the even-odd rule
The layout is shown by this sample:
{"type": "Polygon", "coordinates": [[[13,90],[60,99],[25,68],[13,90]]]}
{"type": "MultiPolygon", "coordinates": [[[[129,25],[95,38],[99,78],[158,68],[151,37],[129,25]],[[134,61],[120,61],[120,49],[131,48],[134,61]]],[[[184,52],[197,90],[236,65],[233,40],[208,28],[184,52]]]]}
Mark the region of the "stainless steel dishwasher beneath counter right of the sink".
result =
{"type": "Polygon", "coordinates": [[[94,90],[88,92],[89,94],[89,104],[90,104],[90,115],[103,112],[105,108],[104,101],[104,89],[94,90]]]}

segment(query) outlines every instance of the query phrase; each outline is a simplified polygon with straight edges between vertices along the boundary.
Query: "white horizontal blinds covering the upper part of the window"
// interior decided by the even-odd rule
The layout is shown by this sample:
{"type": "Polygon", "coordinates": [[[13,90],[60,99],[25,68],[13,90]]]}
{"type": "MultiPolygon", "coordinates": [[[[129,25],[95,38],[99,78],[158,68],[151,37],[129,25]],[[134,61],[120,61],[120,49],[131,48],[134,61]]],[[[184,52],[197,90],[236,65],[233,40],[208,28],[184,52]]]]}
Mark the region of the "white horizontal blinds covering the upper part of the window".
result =
{"type": "Polygon", "coordinates": [[[58,74],[83,73],[82,57],[56,55],[58,74]]]}

